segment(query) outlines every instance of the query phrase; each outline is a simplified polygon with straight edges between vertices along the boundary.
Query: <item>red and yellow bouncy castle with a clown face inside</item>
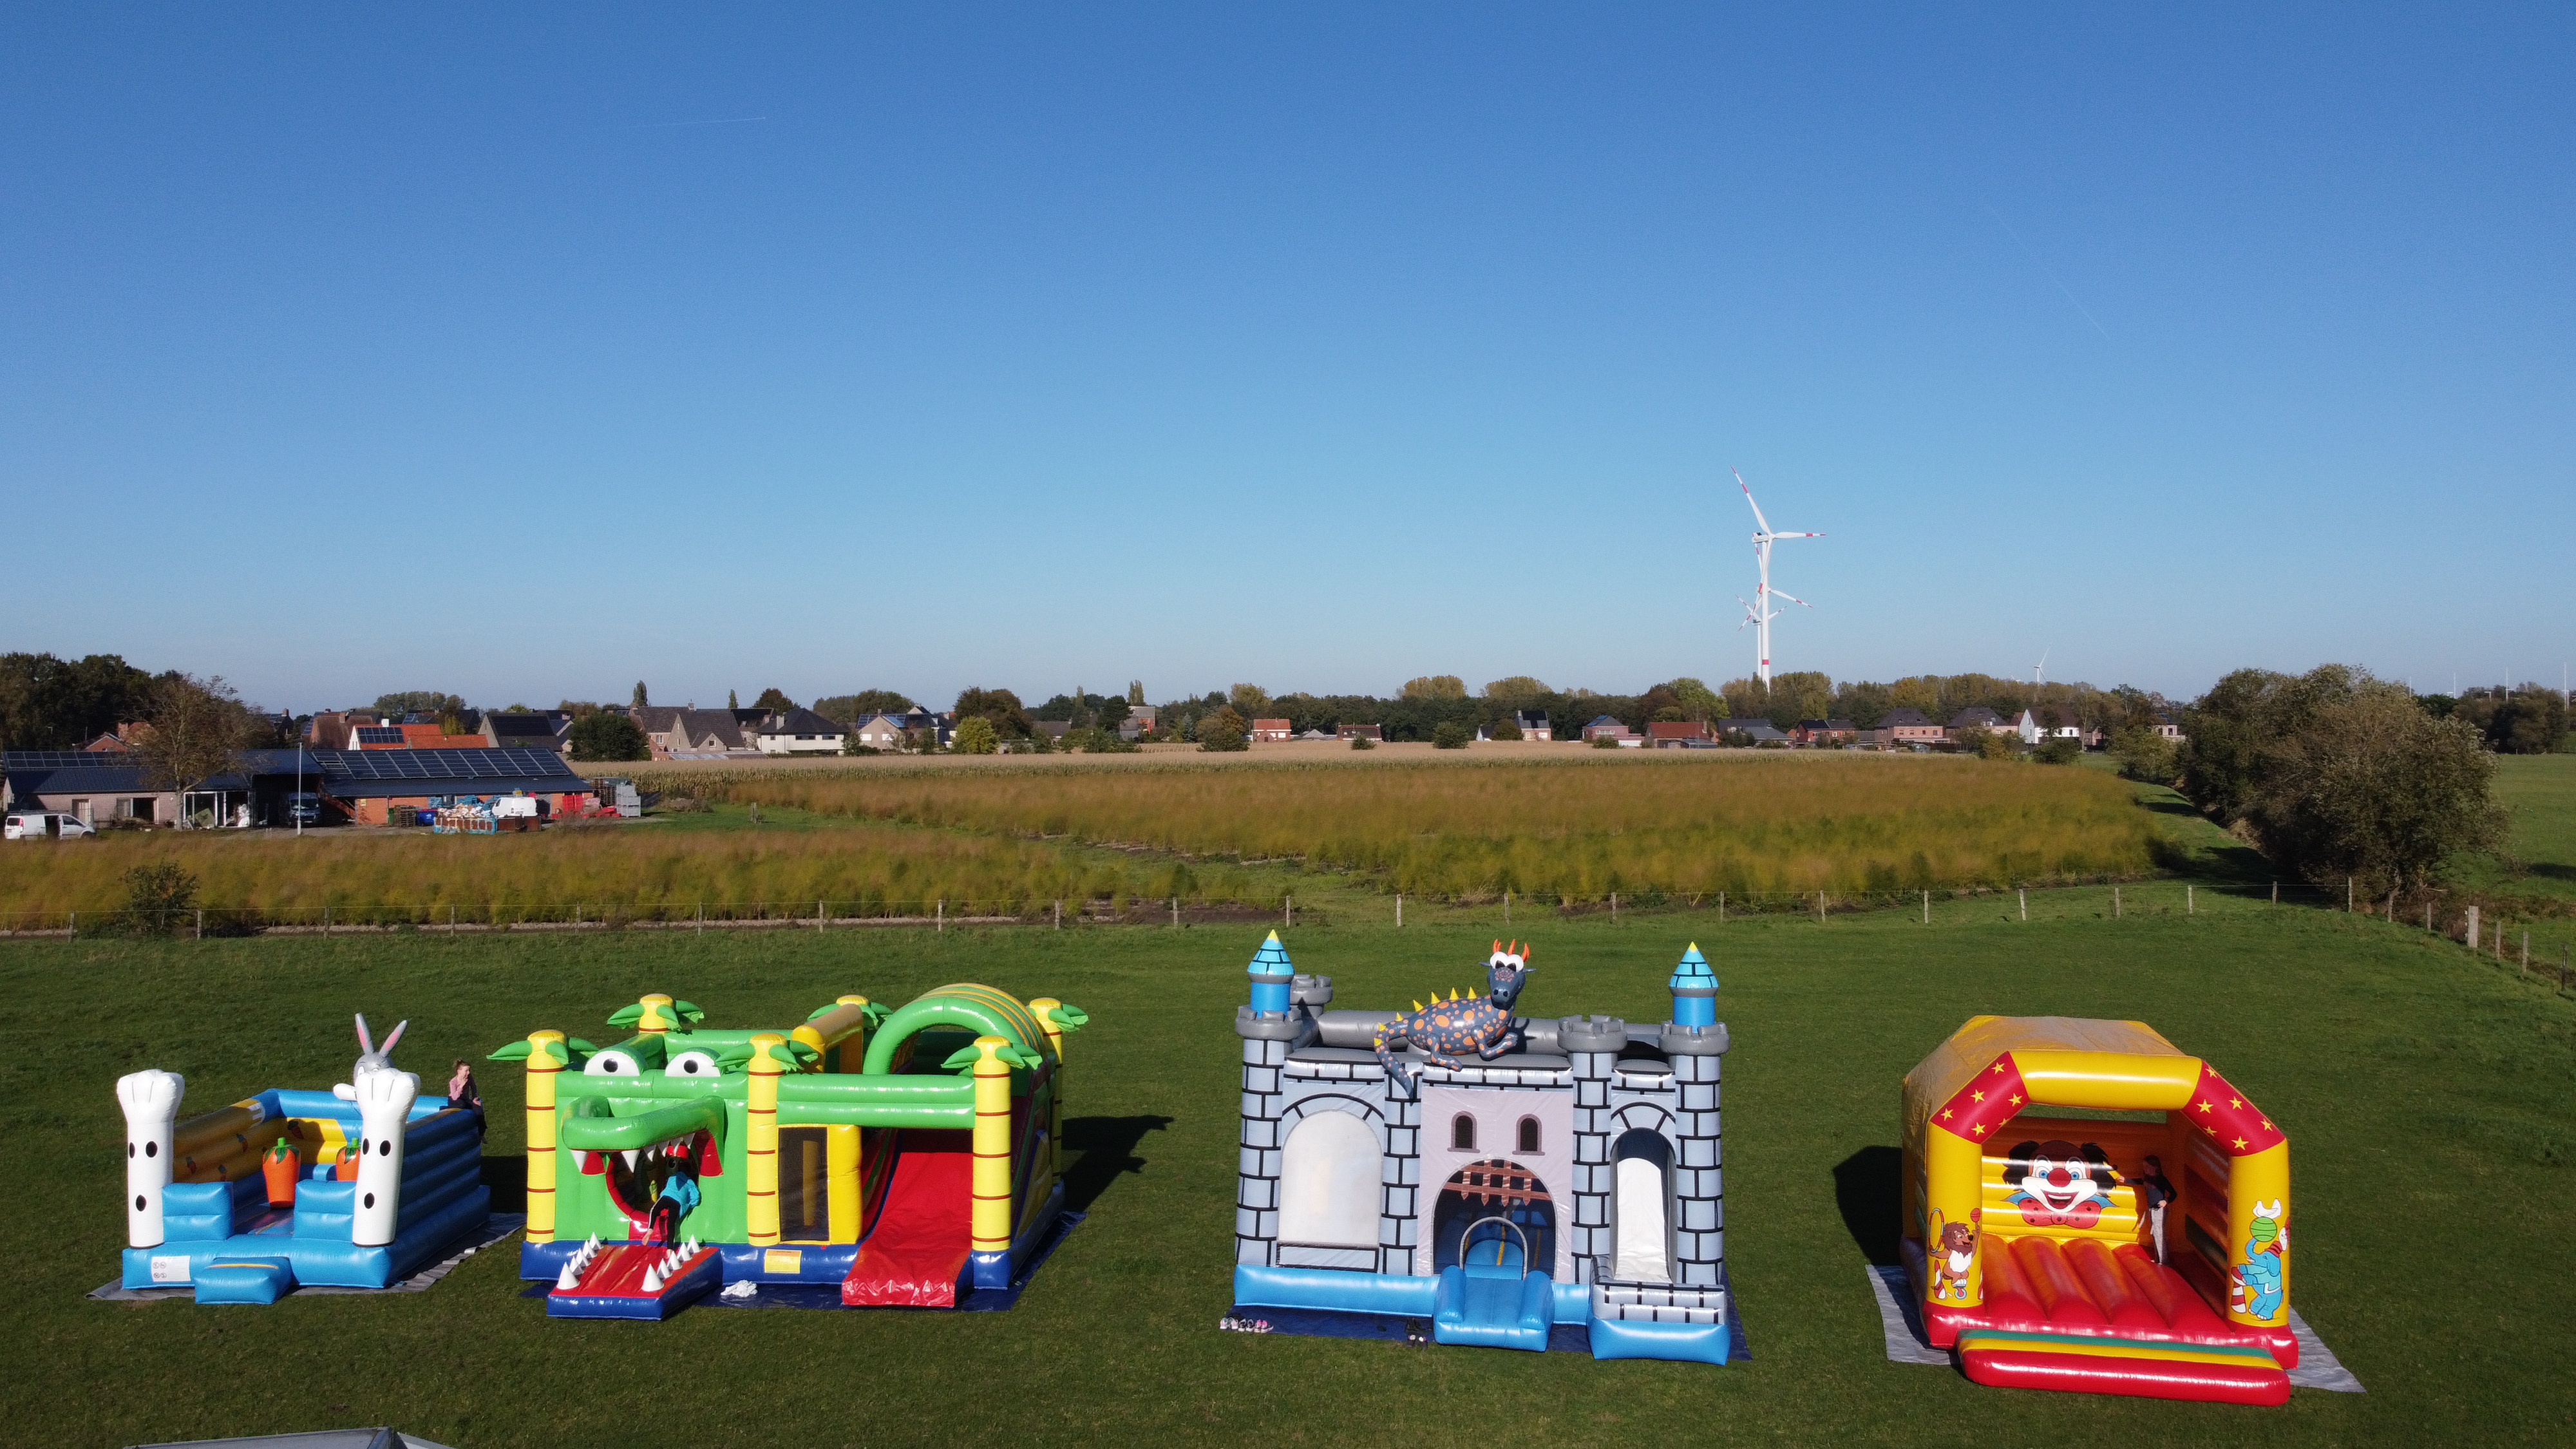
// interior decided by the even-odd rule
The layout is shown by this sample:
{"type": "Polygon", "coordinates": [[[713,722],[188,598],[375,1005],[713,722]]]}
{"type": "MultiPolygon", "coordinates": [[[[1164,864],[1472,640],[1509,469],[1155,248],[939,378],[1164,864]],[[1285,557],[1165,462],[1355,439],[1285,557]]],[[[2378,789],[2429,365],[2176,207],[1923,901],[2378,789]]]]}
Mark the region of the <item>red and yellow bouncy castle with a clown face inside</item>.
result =
{"type": "Polygon", "coordinates": [[[2290,1397],[2290,1140],[2208,1062],[2143,1021],[1976,1016],[1904,1114],[1906,1271],[1971,1379],[2290,1397]]]}

